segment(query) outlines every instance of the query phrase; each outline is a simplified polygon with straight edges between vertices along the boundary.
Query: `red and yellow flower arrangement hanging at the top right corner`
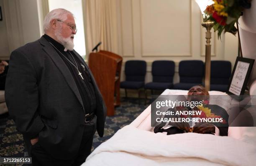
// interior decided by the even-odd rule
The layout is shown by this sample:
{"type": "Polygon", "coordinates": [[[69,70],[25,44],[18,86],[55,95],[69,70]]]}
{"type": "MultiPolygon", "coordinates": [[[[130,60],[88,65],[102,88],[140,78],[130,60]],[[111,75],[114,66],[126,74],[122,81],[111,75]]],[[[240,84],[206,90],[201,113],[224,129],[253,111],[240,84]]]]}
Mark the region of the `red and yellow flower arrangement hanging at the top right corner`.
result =
{"type": "Polygon", "coordinates": [[[213,29],[218,31],[218,38],[222,31],[236,35],[235,23],[245,8],[251,7],[251,0],[213,0],[204,11],[207,20],[214,21],[213,29]]]}

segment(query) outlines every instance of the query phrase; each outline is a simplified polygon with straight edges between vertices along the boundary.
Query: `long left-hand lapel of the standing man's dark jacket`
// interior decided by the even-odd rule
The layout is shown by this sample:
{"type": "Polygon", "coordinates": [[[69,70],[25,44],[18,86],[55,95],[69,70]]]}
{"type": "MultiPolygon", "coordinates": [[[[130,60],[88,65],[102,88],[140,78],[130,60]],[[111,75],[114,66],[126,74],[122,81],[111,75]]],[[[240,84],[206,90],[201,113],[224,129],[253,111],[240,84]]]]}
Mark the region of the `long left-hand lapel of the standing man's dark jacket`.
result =
{"type": "Polygon", "coordinates": [[[84,110],[84,104],[82,102],[82,97],[79,93],[79,90],[78,90],[77,85],[73,79],[73,76],[69,71],[69,68],[64,63],[64,61],[61,59],[59,54],[55,51],[55,49],[51,46],[51,44],[43,36],[39,39],[39,42],[44,46],[43,50],[46,52],[46,54],[48,54],[50,56],[52,61],[54,61],[54,64],[61,71],[67,84],[69,85],[69,87],[72,89],[72,91],[76,95],[77,99],[79,100],[79,102],[82,105],[83,110],[84,110]]]}

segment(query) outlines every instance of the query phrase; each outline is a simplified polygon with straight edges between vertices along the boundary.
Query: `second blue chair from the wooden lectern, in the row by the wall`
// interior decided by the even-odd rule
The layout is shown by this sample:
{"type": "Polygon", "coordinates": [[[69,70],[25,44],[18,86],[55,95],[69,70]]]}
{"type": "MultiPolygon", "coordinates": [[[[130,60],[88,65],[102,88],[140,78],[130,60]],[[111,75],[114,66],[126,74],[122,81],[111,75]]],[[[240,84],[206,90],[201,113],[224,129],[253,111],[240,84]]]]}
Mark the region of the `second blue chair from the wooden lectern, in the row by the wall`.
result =
{"type": "Polygon", "coordinates": [[[153,82],[145,85],[145,89],[164,90],[173,87],[174,61],[154,61],[152,64],[153,82]]]}

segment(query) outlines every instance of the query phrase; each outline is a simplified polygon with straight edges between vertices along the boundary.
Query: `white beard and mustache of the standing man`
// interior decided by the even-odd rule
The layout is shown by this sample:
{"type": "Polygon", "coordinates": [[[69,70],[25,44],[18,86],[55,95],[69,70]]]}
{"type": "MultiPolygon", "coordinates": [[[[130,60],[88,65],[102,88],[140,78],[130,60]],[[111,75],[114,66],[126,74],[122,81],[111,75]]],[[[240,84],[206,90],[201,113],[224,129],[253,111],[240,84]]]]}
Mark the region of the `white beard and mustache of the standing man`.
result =
{"type": "Polygon", "coordinates": [[[57,37],[58,41],[65,47],[65,51],[72,51],[74,49],[74,42],[71,39],[71,37],[74,38],[74,34],[70,35],[67,38],[64,38],[61,36],[61,28],[58,28],[55,31],[55,36],[57,37]]]}

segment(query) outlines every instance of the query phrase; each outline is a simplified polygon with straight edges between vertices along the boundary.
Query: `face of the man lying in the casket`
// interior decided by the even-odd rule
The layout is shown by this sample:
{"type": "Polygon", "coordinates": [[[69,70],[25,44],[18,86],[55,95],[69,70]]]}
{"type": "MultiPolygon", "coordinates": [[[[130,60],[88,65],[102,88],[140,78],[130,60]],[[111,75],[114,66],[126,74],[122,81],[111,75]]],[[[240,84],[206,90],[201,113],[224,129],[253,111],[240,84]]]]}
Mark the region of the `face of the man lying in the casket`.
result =
{"type": "Polygon", "coordinates": [[[197,85],[190,88],[189,92],[187,92],[187,95],[189,101],[202,101],[207,100],[209,93],[207,90],[205,90],[204,87],[197,85]]]}

